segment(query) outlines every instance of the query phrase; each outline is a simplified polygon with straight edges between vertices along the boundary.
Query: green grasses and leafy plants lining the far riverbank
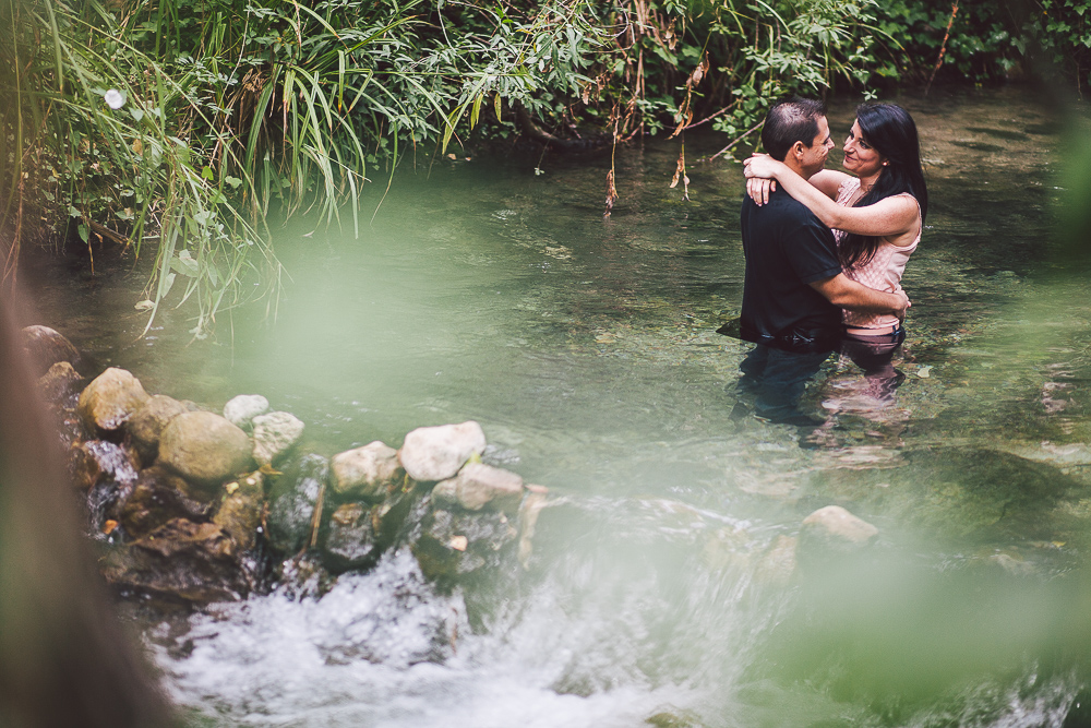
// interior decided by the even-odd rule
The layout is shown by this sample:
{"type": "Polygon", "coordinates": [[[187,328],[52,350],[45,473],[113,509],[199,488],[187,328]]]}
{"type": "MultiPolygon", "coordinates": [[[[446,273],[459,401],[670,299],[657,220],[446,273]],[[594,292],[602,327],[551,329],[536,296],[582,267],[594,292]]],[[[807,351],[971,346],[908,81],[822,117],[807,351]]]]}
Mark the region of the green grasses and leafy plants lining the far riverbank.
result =
{"type": "MultiPolygon", "coordinates": [[[[368,184],[521,136],[753,143],[769,98],[993,83],[1078,95],[1091,0],[7,0],[0,230],[154,256],[193,333],[281,277],[266,219],[359,226],[368,184]],[[943,59],[940,63],[939,60],[943,59]],[[938,73],[937,73],[938,69],[938,73]],[[259,285],[253,285],[253,284],[259,285]],[[247,291],[247,293],[244,293],[247,291]]],[[[680,144],[680,151],[684,145],[680,144]]],[[[684,152],[679,175],[685,183],[684,152]]],[[[607,174],[607,211],[614,189],[607,174]]],[[[380,192],[381,194],[381,192],[380,192]]],[[[373,195],[377,201],[380,194],[373,195]]]]}

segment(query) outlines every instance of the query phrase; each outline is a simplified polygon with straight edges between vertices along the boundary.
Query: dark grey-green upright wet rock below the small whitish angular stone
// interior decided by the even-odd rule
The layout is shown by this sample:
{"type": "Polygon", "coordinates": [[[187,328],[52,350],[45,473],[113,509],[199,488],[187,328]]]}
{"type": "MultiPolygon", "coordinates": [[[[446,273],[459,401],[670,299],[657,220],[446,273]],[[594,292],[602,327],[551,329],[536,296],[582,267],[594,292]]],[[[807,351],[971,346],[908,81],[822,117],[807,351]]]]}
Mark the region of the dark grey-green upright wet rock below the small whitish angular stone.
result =
{"type": "Polygon", "coordinates": [[[295,553],[310,544],[314,511],[329,478],[329,462],[309,453],[273,480],[266,518],[269,546],[295,553]]]}

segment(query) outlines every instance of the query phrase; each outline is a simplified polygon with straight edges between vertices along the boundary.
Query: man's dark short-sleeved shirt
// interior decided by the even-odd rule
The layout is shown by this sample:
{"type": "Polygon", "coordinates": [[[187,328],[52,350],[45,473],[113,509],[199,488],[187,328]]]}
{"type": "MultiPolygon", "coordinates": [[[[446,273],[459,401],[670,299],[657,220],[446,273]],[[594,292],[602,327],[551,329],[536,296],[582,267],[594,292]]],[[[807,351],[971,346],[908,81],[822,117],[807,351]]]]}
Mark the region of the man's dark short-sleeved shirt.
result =
{"type": "Polygon", "coordinates": [[[793,348],[778,342],[792,334],[838,336],[841,309],[808,285],[841,272],[829,228],[781,189],[762,206],[744,195],[741,222],[746,255],[742,338],[793,348]]]}

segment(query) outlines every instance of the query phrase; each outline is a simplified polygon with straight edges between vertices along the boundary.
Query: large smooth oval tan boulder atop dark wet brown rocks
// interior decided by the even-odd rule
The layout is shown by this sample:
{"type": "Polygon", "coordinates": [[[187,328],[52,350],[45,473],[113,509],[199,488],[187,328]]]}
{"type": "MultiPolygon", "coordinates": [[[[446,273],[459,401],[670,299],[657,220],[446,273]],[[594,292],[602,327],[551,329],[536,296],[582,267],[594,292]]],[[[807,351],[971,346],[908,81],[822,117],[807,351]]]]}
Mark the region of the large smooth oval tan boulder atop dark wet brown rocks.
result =
{"type": "Polygon", "coordinates": [[[187,480],[218,485],[250,469],[250,438],[215,413],[183,413],[159,437],[159,461],[187,480]]]}

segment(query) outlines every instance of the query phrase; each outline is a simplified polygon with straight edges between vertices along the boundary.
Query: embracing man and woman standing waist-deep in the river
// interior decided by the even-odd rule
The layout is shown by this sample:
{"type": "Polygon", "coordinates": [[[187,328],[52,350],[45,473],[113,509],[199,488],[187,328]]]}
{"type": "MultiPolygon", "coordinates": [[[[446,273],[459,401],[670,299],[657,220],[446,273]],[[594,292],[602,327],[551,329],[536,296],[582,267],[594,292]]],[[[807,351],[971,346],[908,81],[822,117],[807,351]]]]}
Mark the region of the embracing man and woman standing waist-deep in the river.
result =
{"type": "Polygon", "coordinates": [[[910,306],[901,275],[928,206],[920,142],[904,109],[863,104],[844,142],[849,174],[825,169],[834,147],[825,107],[790,98],[769,109],[762,144],[768,154],[745,163],[741,215],[740,334],[757,346],[739,387],[756,394],[763,419],[817,425],[798,406],[831,351],[865,377],[896,375],[910,306]]]}

